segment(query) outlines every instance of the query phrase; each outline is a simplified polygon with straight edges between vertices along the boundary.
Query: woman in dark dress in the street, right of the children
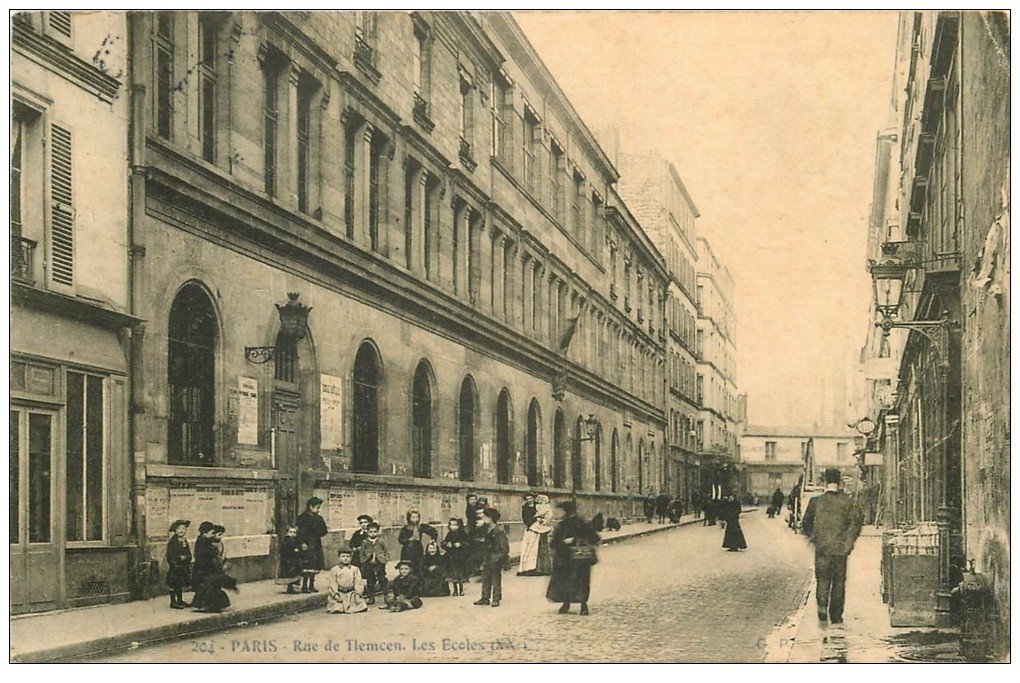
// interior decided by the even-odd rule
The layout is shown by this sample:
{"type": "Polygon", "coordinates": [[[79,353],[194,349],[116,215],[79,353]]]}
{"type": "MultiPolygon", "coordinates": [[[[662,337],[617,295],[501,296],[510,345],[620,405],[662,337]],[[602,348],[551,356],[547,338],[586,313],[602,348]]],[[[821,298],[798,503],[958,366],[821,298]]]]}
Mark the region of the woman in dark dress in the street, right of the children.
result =
{"type": "Polygon", "coordinates": [[[577,517],[577,507],[570,502],[556,506],[563,518],[552,532],[553,575],[546,597],[561,602],[560,614],[570,612],[571,602],[580,602],[581,615],[588,615],[592,591],[592,565],[597,562],[595,548],[599,534],[592,525],[577,517]]]}

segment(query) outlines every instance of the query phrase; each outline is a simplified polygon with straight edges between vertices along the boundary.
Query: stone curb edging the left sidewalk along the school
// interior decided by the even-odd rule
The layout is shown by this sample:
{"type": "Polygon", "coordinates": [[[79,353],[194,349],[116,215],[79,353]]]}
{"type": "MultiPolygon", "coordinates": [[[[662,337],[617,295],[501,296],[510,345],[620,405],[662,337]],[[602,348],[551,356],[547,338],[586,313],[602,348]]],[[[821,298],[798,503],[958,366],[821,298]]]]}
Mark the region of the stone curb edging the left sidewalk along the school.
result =
{"type": "MultiPolygon", "coordinates": [[[[686,520],[677,524],[658,524],[648,529],[638,531],[632,534],[617,536],[603,541],[603,545],[618,543],[631,538],[647,536],[648,534],[666,531],[668,529],[678,529],[692,524],[701,523],[701,519],[686,520]]],[[[635,522],[632,525],[640,524],[635,522]]],[[[520,556],[511,556],[510,564],[516,565],[520,562],[520,556]]],[[[100,654],[109,653],[114,650],[153,645],[166,640],[175,640],[191,635],[211,633],[225,629],[243,626],[252,622],[264,623],[287,617],[301,612],[325,609],[325,593],[312,595],[300,595],[293,599],[279,600],[269,605],[259,605],[256,607],[243,608],[237,611],[224,612],[220,614],[196,614],[194,619],[152,628],[139,629],[128,633],[94,638],[82,642],[68,643],[56,647],[46,647],[42,649],[19,652],[11,655],[10,662],[16,664],[41,664],[52,662],[67,662],[69,660],[81,660],[94,658],[100,654]]]]}

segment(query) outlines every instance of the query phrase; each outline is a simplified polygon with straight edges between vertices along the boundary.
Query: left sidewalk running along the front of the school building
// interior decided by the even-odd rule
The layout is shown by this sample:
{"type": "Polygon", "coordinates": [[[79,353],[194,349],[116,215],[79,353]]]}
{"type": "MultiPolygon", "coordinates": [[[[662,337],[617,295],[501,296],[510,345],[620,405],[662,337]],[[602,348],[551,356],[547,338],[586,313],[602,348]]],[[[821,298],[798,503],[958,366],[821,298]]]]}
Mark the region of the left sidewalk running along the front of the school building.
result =
{"type": "MultiPolygon", "coordinates": [[[[603,543],[701,523],[693,516],[677,524],[634,522],[619,531],[603,531],[603,543]]],[[[510,562],[520,561],[520,543],[510,544],[510,562]]],[[[389,574],[396,574],[394,563],[389,574]]],[[[187,598],[186,598],[187,599],[187,598]]],[[[153,644],[161,640],[220,631],[253,622],[278,619],[298,612],[321,610],[325,593],[288,595],[272,580],[254,581],[232,594],[233,605],[221,614],[170,610],[166,595],[76,610],[19,615],[10,621],[10,661],[62,662],[110,650],[153,644]]]]}

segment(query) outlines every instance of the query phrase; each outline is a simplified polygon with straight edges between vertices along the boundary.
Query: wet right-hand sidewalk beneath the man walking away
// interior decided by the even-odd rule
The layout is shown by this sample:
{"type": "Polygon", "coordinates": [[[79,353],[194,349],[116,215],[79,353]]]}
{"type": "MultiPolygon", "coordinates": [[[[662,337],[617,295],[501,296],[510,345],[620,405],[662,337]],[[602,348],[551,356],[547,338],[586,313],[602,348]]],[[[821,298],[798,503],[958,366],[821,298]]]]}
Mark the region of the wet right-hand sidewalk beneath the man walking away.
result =
{"type": "Polygon", "coordinates": [[[956,629],[894,628],[881,595],[881,530],[865,527],[847,564],[843,624],[815,615],[812,573],[804,603],[770,638],[766,663],[961,662],[956,629]]]}

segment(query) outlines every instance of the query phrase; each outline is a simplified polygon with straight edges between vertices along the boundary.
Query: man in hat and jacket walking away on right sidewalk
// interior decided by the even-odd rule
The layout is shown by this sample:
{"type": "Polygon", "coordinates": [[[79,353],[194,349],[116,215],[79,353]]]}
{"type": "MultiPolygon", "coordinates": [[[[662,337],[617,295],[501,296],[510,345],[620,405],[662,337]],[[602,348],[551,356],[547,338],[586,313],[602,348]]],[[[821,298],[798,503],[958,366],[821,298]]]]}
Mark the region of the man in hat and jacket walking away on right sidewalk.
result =
{"type": "Polygon", "coordinates": [[[815,544],[815,597],[818,620],[843,623],[847,590],[847,556],[861,533],[861,513],[849,495],[839,490],[839,470],[825,470],[825,492],[808,503],[801,522],[804,533],[815,544]]]}

